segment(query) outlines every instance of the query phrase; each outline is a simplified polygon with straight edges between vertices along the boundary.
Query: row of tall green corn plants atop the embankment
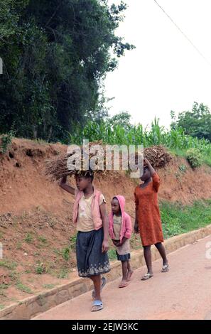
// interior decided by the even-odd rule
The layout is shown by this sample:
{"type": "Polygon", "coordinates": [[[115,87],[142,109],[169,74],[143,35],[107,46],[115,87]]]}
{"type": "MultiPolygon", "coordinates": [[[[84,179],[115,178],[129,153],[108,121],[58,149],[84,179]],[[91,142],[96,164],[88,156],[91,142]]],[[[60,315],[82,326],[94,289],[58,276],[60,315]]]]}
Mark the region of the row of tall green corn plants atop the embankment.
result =
{"type": "Polygon", "coordinates": [[[168,131],[164,126],[160,126],[158,119],[154,119],[148,130],[144,129],[141,124],[127,124],[127,126],[112,124],[109,119],[99,123],[90,121],[83,129],[78,130],[77,128],[77,132],[69,136],[70,143],[82,144],[83,139],[102,140],[104,144],[142,144],[144,147],[164,145],[175,151],[197,149],[203,156],[203,160],[211,156],[210,141],[186,135],[181,127],[175,127],[175,129],[168,131]]]}

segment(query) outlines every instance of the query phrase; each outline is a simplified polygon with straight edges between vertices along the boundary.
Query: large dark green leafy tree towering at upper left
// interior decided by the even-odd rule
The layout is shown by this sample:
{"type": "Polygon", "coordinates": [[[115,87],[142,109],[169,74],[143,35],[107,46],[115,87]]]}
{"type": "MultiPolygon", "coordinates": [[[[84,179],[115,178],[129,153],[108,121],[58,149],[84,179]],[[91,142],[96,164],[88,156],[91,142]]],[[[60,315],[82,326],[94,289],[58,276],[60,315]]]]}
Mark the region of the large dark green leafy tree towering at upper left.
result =
{"type": "Polygon", "coordinates": [[[100,87],[124,50],[126,5],[107,0],[2,0],[0,132],[58,141],[102,117],[100,87]],[[112,50],[112,53],[111,53],[112,50]]]}

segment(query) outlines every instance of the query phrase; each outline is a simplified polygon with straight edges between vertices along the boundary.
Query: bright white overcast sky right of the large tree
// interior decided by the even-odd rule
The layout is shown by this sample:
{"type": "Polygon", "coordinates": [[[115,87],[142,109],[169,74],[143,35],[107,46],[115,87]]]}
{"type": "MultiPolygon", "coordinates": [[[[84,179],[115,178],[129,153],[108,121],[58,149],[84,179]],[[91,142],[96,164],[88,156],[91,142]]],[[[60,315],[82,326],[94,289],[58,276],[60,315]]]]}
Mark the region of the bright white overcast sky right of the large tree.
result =
{"type": "MultiPolygon", "coordinates": [[[[211,63],[211,0],[157,0],[211,63]]],[[[109,0],[109,3],[119,4],[109,0]]],[[[166,127],[170,112],[191,109],[193,102],[211,107],[211,65],[197,53],[153,0],[124,0],[129,8],[118,36],[136,45],[107,75],[110,114],[129,111],[134,123],[166,127]]]]}

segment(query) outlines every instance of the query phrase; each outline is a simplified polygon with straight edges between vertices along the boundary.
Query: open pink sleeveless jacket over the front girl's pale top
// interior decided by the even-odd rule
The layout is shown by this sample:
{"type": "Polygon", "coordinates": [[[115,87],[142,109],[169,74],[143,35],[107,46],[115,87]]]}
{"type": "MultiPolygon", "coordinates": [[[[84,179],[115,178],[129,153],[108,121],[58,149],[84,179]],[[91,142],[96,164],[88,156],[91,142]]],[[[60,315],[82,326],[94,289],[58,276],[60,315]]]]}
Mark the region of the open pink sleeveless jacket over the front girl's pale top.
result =
{"type": "MultiPolygon", "coordinates": [[[[78,215],[78,205],[79,201],[82,198],[83,192],[80,190],[76,190],[76,198],[75,204],[73,207],[73,222],[76,224],[77,215],[78,215]]],[[[92,199],[92,218],[94,222],[95,230],[99,230],[102,227],[102,217],[99,210],[99,197],[101,193],[100,191],[94,188],[94,198],[92,199]]]]}

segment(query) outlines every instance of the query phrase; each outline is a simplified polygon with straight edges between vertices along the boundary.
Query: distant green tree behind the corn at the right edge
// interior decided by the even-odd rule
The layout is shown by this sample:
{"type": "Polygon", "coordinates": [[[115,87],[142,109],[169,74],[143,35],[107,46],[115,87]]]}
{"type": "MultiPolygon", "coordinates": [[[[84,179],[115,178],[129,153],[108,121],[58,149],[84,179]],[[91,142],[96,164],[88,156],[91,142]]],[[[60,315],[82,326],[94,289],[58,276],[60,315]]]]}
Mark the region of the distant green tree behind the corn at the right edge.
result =
{"type": "Polygon", "coordinates": [[[185,130],[185,134],[211,141],[211,114],[210,109],[205,104],[194,102],[191,111],[180,112],[178,119],[176,119],[175,113],[171,112],[171,118],[173,119],[171,123],[173,129],[175,126],[180,126],[185,130]]]}

